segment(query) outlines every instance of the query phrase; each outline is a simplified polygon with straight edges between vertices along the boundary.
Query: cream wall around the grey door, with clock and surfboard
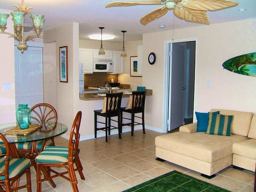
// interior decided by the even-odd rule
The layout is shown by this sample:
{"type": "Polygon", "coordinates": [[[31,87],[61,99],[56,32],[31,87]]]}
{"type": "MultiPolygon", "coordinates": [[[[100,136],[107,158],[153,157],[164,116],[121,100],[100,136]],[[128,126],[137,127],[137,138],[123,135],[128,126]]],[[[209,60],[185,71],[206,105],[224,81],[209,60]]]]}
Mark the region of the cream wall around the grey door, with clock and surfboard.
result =
{"type": "MultiPolygon", "coordinates": [[[[196,111],[223,108],[256,112],[255,77],[232,73],[222,67],[229,58],[256,52],[255,26],[254,18],[176,30],[176,40],[196,39],[196,111]]],[[[172,31],[143,35],[143,71],[146,72],[143,72],[142,84],[153,90],[153,96],[146,99],[145,122],[159,130],[163,128],[165,42],[171,40],[172,31]],[[156,54],[154,65],[146,59],[150,52],[156,54]]]]}

